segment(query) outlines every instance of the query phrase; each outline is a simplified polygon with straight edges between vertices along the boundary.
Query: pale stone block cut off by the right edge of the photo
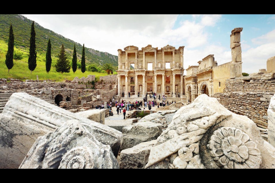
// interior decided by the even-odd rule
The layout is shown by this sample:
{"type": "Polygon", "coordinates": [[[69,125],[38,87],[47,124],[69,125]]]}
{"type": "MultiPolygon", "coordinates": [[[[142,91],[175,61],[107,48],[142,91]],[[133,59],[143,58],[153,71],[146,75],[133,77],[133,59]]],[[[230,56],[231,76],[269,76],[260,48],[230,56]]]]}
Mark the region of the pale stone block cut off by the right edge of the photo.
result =
{"type": "Polygon", "coordinates": [[[268,142],[275,147],[275,96],[270,100],[268,115],[268,142]]]}

